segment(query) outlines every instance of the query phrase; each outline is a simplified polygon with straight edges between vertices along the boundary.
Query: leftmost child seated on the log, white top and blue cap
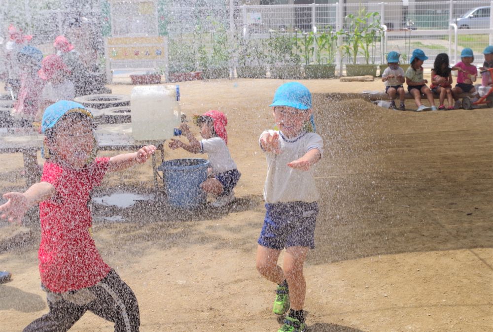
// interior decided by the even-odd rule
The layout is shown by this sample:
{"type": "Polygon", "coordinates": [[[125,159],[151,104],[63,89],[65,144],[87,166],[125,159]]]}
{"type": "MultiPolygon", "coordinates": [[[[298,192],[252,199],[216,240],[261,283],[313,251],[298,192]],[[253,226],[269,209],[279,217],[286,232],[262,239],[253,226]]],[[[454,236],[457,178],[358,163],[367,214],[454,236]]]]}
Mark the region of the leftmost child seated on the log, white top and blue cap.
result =
{"type": "Polygon", "coordinates": [[[390,97],[390,108],[395,109],[395,94],[399,94],[399,109],[404,110],[405,91],[402,83],[404,83],[404,69],[399,67],[400,54],[397,52],[389,52],[387,55],[388,67],[385,68],[382,74],[382,82],[385,82],[385,92],[390,97]]]}

